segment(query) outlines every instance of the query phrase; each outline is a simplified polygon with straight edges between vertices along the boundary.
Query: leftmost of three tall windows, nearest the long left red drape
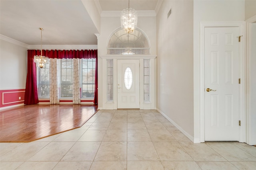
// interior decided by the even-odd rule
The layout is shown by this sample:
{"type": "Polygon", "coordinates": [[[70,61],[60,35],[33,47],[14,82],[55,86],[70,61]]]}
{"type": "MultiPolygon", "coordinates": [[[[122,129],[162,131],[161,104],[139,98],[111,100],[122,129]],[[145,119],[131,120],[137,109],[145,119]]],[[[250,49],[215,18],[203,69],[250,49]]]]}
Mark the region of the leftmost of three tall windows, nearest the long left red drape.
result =
{"type": "Polygon", "coordinates": [[[37,69],[38,75],[38,98],[50,97],[50,62],[44,68],[37,69]]]}

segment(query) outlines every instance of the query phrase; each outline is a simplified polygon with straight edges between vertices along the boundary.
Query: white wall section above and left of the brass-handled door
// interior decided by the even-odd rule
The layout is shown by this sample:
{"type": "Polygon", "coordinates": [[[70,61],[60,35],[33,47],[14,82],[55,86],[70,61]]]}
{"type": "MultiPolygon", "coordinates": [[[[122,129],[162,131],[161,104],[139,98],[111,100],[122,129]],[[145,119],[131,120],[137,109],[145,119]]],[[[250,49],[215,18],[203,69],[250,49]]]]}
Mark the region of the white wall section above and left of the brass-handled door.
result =
{"type": "Polygon", "coordinates": [[[199,26],[201,21],[244,21],[244,0],[194,0],[194,140],[200,141],[199,26]]]}

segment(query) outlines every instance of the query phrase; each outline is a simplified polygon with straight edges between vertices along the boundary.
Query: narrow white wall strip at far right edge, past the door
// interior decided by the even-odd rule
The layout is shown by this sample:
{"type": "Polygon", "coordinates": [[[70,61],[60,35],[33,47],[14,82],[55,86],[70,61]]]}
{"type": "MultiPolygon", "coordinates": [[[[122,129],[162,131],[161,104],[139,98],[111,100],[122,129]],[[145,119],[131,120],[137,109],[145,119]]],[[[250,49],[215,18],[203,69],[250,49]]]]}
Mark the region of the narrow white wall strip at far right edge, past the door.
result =
{"type": "Polygon", "coordinates": [[[250,121],[250,134],[249,134],[249,144],[256,145],[256,23],[252,23],[251,27],[251,49],[249,58],[249,84],[248,84],[248,94],[249,94],[249,121],[250,121]]]}

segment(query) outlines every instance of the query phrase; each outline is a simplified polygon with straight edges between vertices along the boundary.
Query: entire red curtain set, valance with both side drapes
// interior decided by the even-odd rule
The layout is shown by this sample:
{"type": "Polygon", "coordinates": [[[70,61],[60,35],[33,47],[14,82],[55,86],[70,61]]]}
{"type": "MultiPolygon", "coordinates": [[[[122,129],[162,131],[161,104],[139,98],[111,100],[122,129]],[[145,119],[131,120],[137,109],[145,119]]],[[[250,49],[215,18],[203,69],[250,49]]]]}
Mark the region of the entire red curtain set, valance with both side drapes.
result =
{"type": "MultiPolygon", "coordinates": [[[[28,50],[28,73],[26,80],[24,104],[38,103],[36,86],[36,64],[34,63],[34,55],[41,55],[41,51],[28,50]]],[[[47,56],[51,59],[96,59],[94,104],[98,104],[98,50],[43,50],[42,55],[47,56]]]]}

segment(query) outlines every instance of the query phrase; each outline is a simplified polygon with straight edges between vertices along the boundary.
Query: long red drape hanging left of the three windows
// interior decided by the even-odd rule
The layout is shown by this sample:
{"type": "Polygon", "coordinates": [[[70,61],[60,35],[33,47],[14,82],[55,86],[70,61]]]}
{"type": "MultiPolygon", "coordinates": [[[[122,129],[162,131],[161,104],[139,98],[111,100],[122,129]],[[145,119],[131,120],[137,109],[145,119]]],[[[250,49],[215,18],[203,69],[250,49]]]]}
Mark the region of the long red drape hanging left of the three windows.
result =
{"type": "Polygon", "coordinates": [[[38,104],[37,86],[36,86],[36,63],[34,55],[37,51],[28,50],[28,73],[26,80],[26,90],[24,95],[24,104],[38,104]]]}

